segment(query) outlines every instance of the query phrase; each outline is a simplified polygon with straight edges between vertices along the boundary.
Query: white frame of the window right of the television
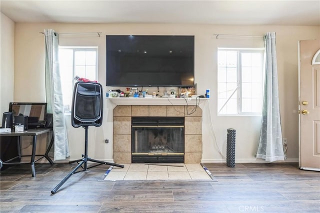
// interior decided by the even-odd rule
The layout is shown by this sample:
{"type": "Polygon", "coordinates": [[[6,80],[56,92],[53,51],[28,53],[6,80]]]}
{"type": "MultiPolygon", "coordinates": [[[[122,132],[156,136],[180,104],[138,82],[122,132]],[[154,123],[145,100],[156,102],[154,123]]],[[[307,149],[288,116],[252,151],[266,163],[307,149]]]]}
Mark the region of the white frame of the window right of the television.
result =
{"type": "MultiPolygon", "coordinates": [[[[217,115],[219,116],[234,116],[234,115],[261,115],[262,113],[262,101],[263,101],[263,82],[264,82],[264,64],[265,64],[265,60],[264,60],[264,48],[218,48],[217,49],[217,53],[219,50],[223,50],[223,51],[237,51],[238,52],[238,58],[237,58],[237,87],[236,89],[234,89],[232,91],[232,94],[230,96],[227,97],[226,102],[219,108],[218,105],[218,96],[217,96],[217,115]],[[260,112],[245,112],[242,111],[242,66],[241,66],[241,53],[254,53],[254,52],[258,52],[261,53],[261,73],[260,73],[260,88],[261,88],[261,93],[260,93],[260,105],[261,105],[261,110],[260,112]],[[237,113],[222,113],[220,112],[222,110],[222,108],[224,107],[224,105],[229,101],[229,99],[231,98],[231,96],[234,93],[237,93],[237,113]]],[[[217,54],[218,55],[218,54],[217,54]]],[[[219,74],[219,65],[217,64],[217,75],[219,74]]],[[[218,81],[218,77],[217,77],[217,85],[218,85],[219,81],[218,81]]],[[[226,82],[227,83],[227,82],[226,82]]],[[[218,91],[219,92],[219,91],[218,91]]]]}

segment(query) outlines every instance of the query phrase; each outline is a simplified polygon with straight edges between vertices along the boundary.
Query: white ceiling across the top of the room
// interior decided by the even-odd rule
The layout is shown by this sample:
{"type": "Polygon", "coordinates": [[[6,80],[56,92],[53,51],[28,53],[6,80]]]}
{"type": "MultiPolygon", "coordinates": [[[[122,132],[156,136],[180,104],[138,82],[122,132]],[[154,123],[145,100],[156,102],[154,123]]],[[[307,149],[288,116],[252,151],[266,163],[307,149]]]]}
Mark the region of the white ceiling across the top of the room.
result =
{"type": "Polygon", "coordinates": [[[14,22],[320,26],[320,0],[1,0],[14,22]]]}

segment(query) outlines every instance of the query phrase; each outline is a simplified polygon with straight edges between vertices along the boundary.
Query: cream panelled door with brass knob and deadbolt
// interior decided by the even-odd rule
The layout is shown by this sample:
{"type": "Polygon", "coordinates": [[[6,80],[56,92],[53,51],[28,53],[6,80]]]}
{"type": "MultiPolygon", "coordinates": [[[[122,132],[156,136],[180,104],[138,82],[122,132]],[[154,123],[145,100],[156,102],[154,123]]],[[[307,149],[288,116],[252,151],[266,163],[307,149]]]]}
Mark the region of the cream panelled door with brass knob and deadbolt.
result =
{"type": "Polygon", "coordinates": [[[320,39],[299,41],[299,168],[320,170],[320,39]]]}

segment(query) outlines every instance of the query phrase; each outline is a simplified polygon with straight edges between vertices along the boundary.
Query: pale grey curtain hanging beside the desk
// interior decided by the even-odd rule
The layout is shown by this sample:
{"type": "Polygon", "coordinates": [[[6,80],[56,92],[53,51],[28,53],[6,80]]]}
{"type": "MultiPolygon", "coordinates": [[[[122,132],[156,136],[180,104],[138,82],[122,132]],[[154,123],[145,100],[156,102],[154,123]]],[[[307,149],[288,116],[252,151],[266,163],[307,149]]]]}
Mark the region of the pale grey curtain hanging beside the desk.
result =
{"type": "Polygon", "coordinates": [[[58,34],[44,29],[45,37],[45,96],[47,112],[53,116],[54,160],[69,156],[67,131],[64,121],[63,99],[58,62],[58,34]]]}

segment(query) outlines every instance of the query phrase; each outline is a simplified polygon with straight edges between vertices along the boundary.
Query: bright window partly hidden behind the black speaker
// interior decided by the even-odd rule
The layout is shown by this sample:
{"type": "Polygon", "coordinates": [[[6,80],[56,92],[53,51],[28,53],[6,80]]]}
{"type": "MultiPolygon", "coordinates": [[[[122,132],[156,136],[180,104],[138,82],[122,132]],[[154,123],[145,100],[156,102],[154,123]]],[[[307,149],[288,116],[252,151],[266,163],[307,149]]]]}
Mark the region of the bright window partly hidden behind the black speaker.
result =
{"type": "Polygon", "coordinates": [[[59,47],[64,112],[71,112],[74,77],[97,80],[97,47],[59,47]]]}

